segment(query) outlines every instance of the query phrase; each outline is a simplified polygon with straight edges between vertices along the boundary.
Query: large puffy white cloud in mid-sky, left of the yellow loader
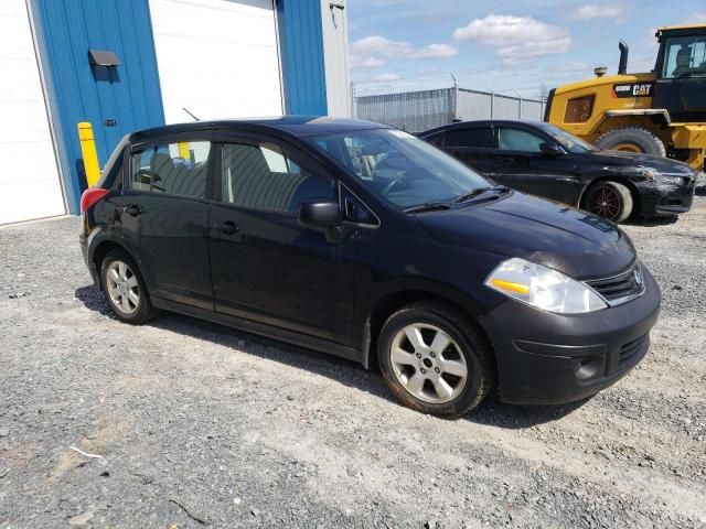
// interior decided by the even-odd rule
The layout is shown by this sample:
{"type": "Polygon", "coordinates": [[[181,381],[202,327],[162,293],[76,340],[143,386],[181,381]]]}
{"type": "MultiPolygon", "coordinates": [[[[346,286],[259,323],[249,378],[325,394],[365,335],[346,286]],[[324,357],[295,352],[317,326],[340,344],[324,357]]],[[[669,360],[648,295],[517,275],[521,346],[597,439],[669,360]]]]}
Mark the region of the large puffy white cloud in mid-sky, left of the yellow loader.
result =
{"type": "Polygon", "coordinates": [[[564,28],[547,24],[531,17],[489,14],[475,19],[453,32],[457,41],[474,41],[496,47],[495,54],[504,65],[511,66],[558,53],[571,45],[564,28]]]}

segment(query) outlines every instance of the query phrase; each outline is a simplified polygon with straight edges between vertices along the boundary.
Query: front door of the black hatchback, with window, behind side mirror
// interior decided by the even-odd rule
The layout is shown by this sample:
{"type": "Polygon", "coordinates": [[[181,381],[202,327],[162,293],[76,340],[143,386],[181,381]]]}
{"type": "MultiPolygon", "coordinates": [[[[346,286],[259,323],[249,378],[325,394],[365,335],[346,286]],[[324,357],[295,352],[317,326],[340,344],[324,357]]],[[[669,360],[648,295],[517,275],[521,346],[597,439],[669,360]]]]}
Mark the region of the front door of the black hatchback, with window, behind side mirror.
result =
{"type": "Polygon", "coordinates": [[[297,220],[304,201],[338,201],[336,183],[269,138],[220,150],[211,208],[216,311],[350,345],[355,231],[331,238],[297,220]]]}

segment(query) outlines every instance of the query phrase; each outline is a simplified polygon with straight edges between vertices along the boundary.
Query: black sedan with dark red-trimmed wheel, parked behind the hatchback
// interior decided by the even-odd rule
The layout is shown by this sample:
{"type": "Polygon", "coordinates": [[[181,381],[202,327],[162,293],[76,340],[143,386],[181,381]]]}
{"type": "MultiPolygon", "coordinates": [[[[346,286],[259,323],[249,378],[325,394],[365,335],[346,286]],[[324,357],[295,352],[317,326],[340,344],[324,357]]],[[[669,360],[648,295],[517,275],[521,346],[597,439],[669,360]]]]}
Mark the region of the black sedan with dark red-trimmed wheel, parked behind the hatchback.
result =
{"type": "Polygon", "coordinates": [[[501,184],[616,223],[684,213],[694,198],[687,164],[601,151],[549,123],[467,121],[419,136],[501,184]]]}

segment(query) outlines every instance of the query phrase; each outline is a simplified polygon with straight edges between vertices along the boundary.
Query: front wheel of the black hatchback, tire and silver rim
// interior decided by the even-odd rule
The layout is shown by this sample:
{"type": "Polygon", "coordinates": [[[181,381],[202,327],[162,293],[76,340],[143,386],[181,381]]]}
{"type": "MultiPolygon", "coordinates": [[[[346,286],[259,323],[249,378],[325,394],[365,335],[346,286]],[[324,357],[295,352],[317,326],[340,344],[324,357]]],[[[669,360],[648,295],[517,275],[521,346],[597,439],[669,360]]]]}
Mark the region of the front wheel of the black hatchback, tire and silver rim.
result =
{"type": "Polygon", "coordinates": [[[475,408],[495,382],[484,334],[443,303],[411,303],[391,315],[377,358],[391,391],[422,413],[459,415],[475,408]]]}

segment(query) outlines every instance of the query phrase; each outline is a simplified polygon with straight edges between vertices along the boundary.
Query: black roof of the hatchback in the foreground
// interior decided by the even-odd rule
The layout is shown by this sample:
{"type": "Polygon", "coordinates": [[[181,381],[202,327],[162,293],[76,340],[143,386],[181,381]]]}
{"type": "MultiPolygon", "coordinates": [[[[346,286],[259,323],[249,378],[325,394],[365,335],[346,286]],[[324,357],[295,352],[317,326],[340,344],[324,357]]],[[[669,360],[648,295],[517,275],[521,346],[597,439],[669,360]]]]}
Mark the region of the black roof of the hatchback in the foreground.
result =
{"type": "Polygon", "coordinates": [[[329,134],[355,130],[388,129],[386,125],[362,119],[332,118],[327,116],[280,116],[272,118],[222,119],[167,125],[139,130],[129,136],[129,141],[140,142],[164,136],[203,130],[285,131],[293,136],[329,134]]]}

